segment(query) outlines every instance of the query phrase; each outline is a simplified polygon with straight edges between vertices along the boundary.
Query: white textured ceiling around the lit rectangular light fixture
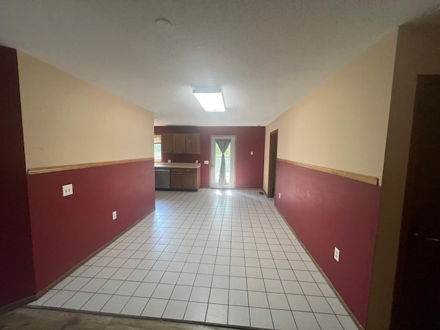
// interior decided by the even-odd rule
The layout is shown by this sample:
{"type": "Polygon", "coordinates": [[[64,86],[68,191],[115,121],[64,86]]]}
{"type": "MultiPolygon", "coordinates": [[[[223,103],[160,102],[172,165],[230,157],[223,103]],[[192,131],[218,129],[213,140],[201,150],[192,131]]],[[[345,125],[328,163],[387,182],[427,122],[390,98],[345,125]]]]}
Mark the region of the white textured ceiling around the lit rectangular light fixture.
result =
{"type": "Polygon", "coordinates": [[[155,113],[156,125],[265,126],[439,0],[0,0],[0,44],[155,113]],[[162,30],[155,19],[172,27],[162,30]],[[205,113],[192,87],[221,87],[205,113]]]}

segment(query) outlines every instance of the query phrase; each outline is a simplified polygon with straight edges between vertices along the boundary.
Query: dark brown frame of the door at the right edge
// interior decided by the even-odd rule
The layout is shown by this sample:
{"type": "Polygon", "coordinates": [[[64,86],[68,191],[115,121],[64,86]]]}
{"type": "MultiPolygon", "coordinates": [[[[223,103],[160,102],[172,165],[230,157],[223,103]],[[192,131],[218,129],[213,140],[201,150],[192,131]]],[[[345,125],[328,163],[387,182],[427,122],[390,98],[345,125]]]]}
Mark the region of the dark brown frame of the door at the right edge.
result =
{"type": "MultiPolygon", "coordinates": [[[[408,157],[408,169],[406,171],[406,185],[404,196],[404,207],[401,216],[401,229],[399,237],[399,252],[397,254],[397,269],[395,275],[393,305],[391,310],[391,325],[390,329],[402,329],[402,313],[408,313],[406,305],[402,300],[406,291],[408,281],[408,265],[410,264],[410,249],[412,240],[412,224],[415,219],[412,218],[412,197],[415,194],[415,181],[417,180],[416,166],[419,159],[417,159],[417,140],[419,139],[419,132],[423,130],[419,116],[421,115],[421,103],[423,102],[423,89],[432,83],[440,85],[440,75],[419,75],[417,76],[417,87],[415,92],[414,109],[412,113],[412,128],[410,137],[410,151],[408,157]]],[[[438,134],[440,135],[440,133],[438,134]]],[[[439,136],[440,137],[440,136],[439,136]]]]}

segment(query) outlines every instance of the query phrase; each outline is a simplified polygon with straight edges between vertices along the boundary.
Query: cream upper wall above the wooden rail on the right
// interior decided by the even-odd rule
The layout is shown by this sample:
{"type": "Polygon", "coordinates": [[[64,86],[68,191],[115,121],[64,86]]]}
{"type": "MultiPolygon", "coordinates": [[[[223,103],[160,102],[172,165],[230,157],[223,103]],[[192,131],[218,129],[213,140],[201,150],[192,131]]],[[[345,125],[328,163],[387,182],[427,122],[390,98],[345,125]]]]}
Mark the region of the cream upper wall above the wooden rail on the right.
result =
{"type": "Polygon", "coordinates": [[[263,189],[270,132],[278,158],[382,179],[397,29],[340,69],[266,126],[263,189]]]}

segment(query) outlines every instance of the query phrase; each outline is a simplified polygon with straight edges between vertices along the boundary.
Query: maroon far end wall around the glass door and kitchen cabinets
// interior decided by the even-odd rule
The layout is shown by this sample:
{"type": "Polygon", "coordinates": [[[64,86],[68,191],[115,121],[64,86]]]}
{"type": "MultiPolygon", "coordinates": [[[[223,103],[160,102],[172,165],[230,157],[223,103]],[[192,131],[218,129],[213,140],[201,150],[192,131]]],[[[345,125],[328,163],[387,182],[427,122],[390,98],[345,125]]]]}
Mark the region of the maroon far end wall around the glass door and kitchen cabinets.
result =
{"type": "Polygon", "coordinates": [[[263,188],[265,127],[251,126],[155,126],[160,133],[200,133],[200,155],[162,154],[162,162],[201,163],[201,186],[209,187],[210,135],[236,135],[235,187],[263,188]],[[254,155],[250,152],[253,151],[254,155]]]}

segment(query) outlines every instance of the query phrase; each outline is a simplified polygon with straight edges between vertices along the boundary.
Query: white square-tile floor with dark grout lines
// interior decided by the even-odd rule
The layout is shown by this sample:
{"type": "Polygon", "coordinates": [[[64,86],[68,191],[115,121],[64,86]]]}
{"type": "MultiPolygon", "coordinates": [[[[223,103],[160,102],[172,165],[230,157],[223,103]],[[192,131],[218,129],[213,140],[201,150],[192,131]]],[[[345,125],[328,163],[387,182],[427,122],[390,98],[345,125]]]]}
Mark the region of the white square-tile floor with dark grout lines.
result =
{"type": "Polygon", "coordinates": [[[358,329],[258,190],[156,192],[156,210],[31,305],[265,329],[358,329]]]}

